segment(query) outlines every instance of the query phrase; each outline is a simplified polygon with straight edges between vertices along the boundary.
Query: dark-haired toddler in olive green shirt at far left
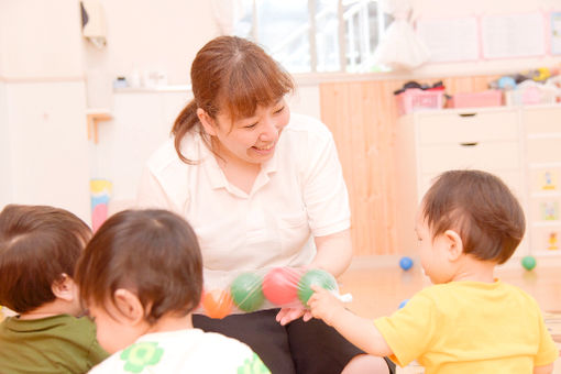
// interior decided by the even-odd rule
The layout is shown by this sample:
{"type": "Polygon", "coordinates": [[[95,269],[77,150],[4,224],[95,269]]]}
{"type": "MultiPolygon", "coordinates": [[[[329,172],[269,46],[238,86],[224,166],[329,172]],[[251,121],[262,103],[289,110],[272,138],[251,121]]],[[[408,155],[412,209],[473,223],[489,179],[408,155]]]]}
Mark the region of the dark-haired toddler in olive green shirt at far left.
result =
{"type": "Polygon", "coordinates": [[[0,212],[0,305],[18,315],[0,324],[0,373],[86,373],[108,356],[82,308],[74,267],[91,230],[47,206],[0,212]]]}

